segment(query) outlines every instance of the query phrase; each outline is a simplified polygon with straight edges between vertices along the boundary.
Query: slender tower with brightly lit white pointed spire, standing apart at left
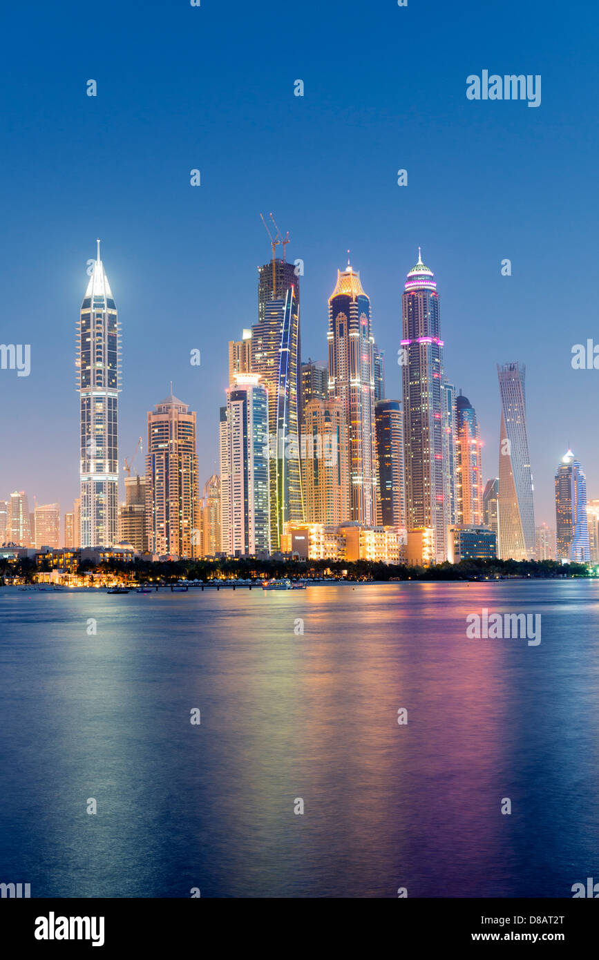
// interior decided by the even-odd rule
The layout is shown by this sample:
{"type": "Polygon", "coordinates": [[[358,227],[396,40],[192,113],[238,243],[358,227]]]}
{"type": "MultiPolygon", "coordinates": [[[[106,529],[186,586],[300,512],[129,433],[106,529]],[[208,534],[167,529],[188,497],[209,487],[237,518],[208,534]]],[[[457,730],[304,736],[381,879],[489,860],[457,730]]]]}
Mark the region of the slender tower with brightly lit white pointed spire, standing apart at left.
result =
{"type": "Polygon", "coordinates": [[[118,395],[120,326],[98,252],[77,327],[80,396],[81,545],[118,540],[118,395]]]}

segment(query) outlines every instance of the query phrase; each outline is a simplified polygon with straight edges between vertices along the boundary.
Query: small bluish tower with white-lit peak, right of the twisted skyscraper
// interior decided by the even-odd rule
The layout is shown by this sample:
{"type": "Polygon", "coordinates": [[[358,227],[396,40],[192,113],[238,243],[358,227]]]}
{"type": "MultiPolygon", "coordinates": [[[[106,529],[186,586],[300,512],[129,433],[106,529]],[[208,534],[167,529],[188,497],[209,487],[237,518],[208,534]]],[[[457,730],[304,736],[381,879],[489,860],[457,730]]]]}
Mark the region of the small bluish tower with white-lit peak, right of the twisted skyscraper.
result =
{"type": "Polygon", "coordinates": [[[590,559],[587,527],[587,477],[571,450],[555,475],[558,560],[580,564],[590,559]]]}

